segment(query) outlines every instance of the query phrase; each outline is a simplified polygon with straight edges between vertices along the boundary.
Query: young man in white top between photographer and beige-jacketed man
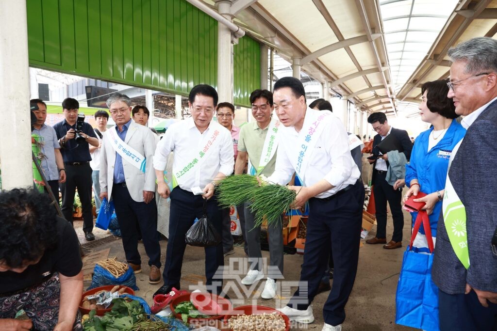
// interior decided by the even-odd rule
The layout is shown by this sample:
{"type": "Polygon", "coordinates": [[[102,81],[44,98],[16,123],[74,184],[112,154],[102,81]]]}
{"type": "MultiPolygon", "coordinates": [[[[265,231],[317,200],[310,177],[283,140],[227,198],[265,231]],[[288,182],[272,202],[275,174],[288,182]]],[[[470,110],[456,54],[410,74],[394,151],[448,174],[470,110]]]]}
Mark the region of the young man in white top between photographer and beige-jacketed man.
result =
{"type": "Polygon", "coordinates": [[[100,200],[100,149],[102,148],[102,137],[103,132],[107,130],[107,121],[109,120],[109,114],[104,110],[97,110],[95,112],[95,122],[96,129],[93,131],[98,138],[98,146],[89,146],[91,161],[91,180],[93,181],[93,196],[95,198],[96,213],[100,210],[100,205],[102,201],[100,200]]]}

